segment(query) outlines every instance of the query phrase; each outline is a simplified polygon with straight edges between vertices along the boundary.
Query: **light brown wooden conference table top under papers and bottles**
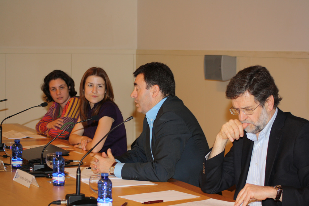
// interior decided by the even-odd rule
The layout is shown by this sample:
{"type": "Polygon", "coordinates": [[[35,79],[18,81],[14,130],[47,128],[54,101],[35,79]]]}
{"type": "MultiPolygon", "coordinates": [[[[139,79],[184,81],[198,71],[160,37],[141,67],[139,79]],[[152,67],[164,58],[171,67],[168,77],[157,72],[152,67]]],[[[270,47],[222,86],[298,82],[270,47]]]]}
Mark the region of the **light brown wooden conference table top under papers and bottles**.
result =
{"type": "MultiPolygon", "coordinates": [[[[2,124],[3,132],[7,132],[10,130],[15,130],[19,132],[24,131],[31,131],[35,133],[35,130],[22,126],[20,124],[2,124]]],[[[24,138],[20,140],[20,143],[23,146],[30,146],[30,145],[43,145],[49,142],[51,139],[32,139],[32,138],[24,138]]],[[[2,137],[2,142],[10,142],[14,140],[9,140],[2,137]]],[[[53,145],[63,144],[69,145],[67,141],[64,140],[55,140],[52,143],[53,145]]],[[[66,159],[76,159],[80,160],[83,155],[86,153],[82,149],[78,149],[73,147],[74,150],[70,151],[70,155],[66,156],[66,159]],[[83,153],[83,154],[81,154],[83,153]]],[[[5,154],[4,152],[0,152],[0,155],[5,154]]],[[[0,159],[5,163],[10,163],[9,158],[2,158],[0,159]]],[[[91,157],[88,155],[84,160],[83,166],[89,166],[91,157]]],[[[72,164],[72,163],[71,163],[72,164]]],[[[74,162],[75,164],[75,162],[74,162]]],[[[63,187],[56,187],[53,186],[52,183],[48,183],[47,181],[51,179],[47,179],[45,177],[36,177],[36,181],[40,187],[36,187],[31,185],[30,188],[27,188],[15,181],[13,181],[14,174],[16,170],[8,170],[8,171],[0,171],[0,194],[1,200],[0,205],[48,205],[49,203],[56,201],[56,200],[64,200],[66,194],[75,193],[76,192],[76,179],[74,178],[66,178],[65,185],[63,187]]],[[[173,205],[173,204],[180,204],[185,202],[193,202],[193,201],[200,201],[206,200],[209,198],[214,198],[218,200],[225,200],[233,202],[232,194],[230,191],[224,191],[223,196],[217,194],[205,194],[201,191],[199,187],[195,187],[193,185],[175,180],[170,179],[166,183],[155,182],[158,185],[150,185],[150,186],[134,186],[134,187],[116,187],[112,189],[112,198],[113,198],[113,205],[120,206],[121,204],[128,202],[128,206],[130,205],[141,205],[138,202],[133,200],[127,200],[124,198],[120,198],[121,195],[133,195],[133,194],[140,194],[146,192],[157,192],[157,191],[166,191],[166,190],[176,190],[180,192],[189,193],[192,195],[198,195],[201,197],[188,199],[188,200],[178,200],[178,201],[170,201],[170,202],[163,202],[160,204],[156,204],[159,206],[165,205],[173,205]]],[[[98,195],[93,192],[89,185],[85,183],[81,183],[81,193],[84,193],[86,196],[93,196],[95,198],[98,195]]]]}

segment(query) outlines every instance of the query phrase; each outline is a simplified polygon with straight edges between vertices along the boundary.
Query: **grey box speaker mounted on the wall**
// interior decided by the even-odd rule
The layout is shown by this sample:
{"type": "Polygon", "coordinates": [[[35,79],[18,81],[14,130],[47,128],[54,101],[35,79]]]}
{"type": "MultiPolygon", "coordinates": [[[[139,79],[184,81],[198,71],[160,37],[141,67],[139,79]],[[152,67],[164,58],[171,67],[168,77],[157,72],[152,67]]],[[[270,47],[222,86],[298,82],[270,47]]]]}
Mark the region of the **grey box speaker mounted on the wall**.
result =
{"type": "Polygon", "coordinates": [[[236,75],[236,57],[227,55],[205,55],[205,79],[227,81],[236,75]]]}

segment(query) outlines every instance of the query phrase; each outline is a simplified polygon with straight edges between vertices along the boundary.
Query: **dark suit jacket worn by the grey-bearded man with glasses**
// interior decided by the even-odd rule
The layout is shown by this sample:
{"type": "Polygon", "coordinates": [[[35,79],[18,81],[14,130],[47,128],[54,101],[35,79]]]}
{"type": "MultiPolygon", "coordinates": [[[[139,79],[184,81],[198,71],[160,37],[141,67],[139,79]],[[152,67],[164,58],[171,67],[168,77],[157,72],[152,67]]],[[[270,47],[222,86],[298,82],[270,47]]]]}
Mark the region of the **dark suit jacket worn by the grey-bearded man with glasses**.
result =
{"type": "MultiPolygon", "coordinates": [[[[225,157],[222,152],[205,161],[202,191],[216,193],[236,184],[236,199],[247,180],[253,143],[245,134],[225,157]]],[[[269,135],[264,186],[275,185],[283,188],[282,203],[266,199],[262,205],[309,205],[309,121],[279,108],[269,135]]]]}

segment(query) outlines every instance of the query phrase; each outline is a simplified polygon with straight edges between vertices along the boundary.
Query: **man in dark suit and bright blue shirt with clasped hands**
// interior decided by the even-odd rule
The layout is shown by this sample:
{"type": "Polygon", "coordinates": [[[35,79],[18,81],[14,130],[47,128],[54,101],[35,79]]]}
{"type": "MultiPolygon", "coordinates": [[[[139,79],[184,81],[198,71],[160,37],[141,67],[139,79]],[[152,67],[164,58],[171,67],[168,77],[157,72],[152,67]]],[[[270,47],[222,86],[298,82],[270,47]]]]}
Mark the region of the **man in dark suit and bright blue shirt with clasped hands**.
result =
{"type": "Polygon", "coordinates": [[[166,182],[170,178],[199,187],[206,151],[205,135],[191,111],[175,96],[175,80],[167,65],[152,62],[134,73],[137,111],[145,114],[143,131],[127,153],[115,158],[92,154],[94,173],[122,179],[166,182]]]}

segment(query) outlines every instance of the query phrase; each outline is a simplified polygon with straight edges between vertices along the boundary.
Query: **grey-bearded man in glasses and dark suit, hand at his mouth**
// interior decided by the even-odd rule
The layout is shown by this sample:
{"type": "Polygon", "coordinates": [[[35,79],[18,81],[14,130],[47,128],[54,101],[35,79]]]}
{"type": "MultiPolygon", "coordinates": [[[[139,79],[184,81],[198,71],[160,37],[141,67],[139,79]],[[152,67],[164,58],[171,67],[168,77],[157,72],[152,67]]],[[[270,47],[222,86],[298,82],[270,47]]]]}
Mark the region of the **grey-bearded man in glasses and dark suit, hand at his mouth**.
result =
{"type": "Polygon", "coordinates": [[[230,120],[218,133],[200,174],[202,191],[236,184],[235,206],[309,205],[309,121],[282,112],[269,71],[252,66],[229,82],[230,120]],[[227,141],[231,150],[224,157],[227,141]]]}

